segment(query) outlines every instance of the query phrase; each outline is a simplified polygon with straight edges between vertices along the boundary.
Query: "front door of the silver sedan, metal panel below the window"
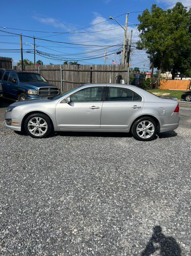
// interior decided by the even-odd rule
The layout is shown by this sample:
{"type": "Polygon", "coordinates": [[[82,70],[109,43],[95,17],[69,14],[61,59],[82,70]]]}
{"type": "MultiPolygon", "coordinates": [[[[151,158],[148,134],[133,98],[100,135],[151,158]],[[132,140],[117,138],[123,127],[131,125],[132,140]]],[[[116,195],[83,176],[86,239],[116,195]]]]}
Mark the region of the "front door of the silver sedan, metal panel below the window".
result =
{"type": "Polygon", "coordinates": [[[58,103],[55,115],[60,130],[100,129],[103,102],[58,103]]]}

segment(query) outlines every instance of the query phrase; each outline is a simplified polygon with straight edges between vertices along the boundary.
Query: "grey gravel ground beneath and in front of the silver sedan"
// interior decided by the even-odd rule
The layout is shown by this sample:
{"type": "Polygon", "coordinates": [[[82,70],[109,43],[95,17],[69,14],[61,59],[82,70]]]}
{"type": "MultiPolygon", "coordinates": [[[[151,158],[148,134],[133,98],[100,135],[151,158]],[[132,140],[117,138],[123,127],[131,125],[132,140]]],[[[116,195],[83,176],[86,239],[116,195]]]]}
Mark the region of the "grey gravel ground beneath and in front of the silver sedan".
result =
{"type": "Polygon", "coordinates": [[[150,142],[1,122],[0,254],[190,255],[189,116],[150,142]]]}

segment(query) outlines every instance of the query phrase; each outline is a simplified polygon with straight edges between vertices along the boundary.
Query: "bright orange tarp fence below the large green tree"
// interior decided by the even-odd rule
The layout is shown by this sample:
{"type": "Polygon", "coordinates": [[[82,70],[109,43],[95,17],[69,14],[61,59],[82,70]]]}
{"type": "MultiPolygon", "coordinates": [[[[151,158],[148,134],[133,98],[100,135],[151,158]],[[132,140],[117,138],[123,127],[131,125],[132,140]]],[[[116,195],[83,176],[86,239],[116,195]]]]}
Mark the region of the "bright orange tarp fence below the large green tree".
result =
{"type": "Polygon", "coordinates": [[[160,80],[159,89],[189,90],[190,83],[190,80],[160,80]]]}

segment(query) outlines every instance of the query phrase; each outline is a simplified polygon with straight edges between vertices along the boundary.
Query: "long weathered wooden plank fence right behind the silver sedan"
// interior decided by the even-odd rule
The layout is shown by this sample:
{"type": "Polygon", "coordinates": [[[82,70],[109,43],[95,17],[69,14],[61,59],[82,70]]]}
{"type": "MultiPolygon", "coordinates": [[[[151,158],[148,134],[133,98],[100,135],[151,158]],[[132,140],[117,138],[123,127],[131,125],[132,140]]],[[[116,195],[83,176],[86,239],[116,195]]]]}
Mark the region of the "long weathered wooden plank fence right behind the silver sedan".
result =
{"type": "MultiPolygon", "coordinates": [[[[20,70],[20,66],[14,69],[20,70]]],[[[121,75],[127,82],[127,65],[41,65],[25,66],[25,71],[39,72],[52,85],[68,91],[85,83],[116,83],[121,75]]]]}

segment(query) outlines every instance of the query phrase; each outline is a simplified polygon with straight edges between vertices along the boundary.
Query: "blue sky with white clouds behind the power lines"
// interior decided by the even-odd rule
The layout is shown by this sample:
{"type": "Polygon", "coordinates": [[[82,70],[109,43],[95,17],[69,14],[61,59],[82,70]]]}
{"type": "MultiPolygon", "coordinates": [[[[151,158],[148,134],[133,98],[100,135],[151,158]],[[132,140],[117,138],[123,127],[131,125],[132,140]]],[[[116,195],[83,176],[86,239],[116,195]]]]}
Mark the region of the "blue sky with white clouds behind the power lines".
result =
{"type": "MultiPolygon", "coordinates": [[[[6,27],[6,29],[0,28],[0,30],[18,34],[22,33],[23,35],[53,41],[85,44],[85,46],[82,46],[36,40],[37,50],[43,52],[43,54],[51,53],[54,54],[56,58],[62,59],[81,59],[79,60],[81,64],[103,64],[104,58],[86,59],[97,57],[97,55],[103,56],[104,48],[109,46],[113,47],[106,49],[107,54],[117,52],[120,49],[120,46],[117,46],[117,44],[123,42],[124,31],[114,20],[105,21],[109,16],[116,17],[130,12],[128,32],[131,31],[131,29],[133,30],[132,42],[135,45],[139,37],[136,25],[134,24],[138,23],[137,16],[139,13],[131,12],[142,11],[145,8],[150,9],[152,3],[156,3],[161,8],[171,8],[176,2],[177,1],[174,0],[46,0],[38,2],[11,0],[9,2],[9,5],[11,5],[9,6],[9,11],[1,11],[0,26],[6,27]],[[94,25],[99,22],[102,23],[94,25]],[[91,27],[80,29],[87,26],[91,27]],[[16,28],[18,30],[9,28],[16,28]],[[21,29],[61,33],[74,31],[75,33],[59,35],[55,33],[23,31],[21,29]]],[[[190,0],[180,2],[185,6],[191,5],[190,0]]],[[[6,9],[7,2],[1,2],[1,10],[6,9]]],[[[125,15],[117,17],[116,19],[120,24],[125,24],[125,15]]],[[[28,51],[28,53],[24,53],[23,57],[33,61],[33,53],[29,53],[32,51],[32,46],[26,43],[33,44],[33,39],[23,36],[23,49],[28,51]]],[[[20,38],[19,36],[0,32],[0,45],[0,49],[20,49],[20,38]]],[[[20,52],[1,52],[0,56],[12,57],[14,64],[20,60],[20,52]]],[[[112,64],[112,60],[119,63],[119,58],[119,55],[108,55],[106,63],[112,64]]],[[[63,63],[63,61],[51,60],[38,55],[36,55],[36,60],[42,60],[44,64],[49,64],[50,62],[54,64],[63,63]]],[[[149,61],[143,51],[132,50],[131,64],[134,67],[138,66],[142,69],[145,68],[145,70],[149,70],[149,61]]]]}

